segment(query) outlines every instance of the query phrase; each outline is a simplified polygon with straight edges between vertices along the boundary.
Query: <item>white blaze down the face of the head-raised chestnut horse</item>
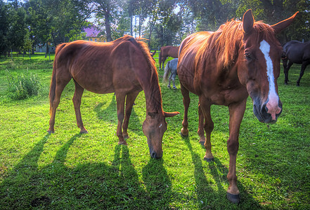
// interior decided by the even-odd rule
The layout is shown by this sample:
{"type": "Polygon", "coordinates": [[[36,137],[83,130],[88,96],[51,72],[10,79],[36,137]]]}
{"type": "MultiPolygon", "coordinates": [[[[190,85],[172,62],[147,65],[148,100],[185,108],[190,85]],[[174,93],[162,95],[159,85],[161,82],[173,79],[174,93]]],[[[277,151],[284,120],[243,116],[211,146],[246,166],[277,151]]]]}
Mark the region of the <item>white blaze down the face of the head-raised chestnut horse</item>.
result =
{"type": "Polygon", "coordinates": [[[271,114],[271,117],[273,120],[276,120],[276,114],[280,113],[281,109],[278,106],[279,97],[276,92],[276,85],[274,83],[274,76],[273,76],[273,64],[271,57],[269,56],[270,52],[270,45],[266,41],[261,41],[259,50],[264,54],[264,57],[266,59],[266,66],[267,66],[267,76],[269,81],[269,93],[268,93],[268,99],[269,102],[266,104],[266,107],[268,109],[268,113],[271,114]]]}

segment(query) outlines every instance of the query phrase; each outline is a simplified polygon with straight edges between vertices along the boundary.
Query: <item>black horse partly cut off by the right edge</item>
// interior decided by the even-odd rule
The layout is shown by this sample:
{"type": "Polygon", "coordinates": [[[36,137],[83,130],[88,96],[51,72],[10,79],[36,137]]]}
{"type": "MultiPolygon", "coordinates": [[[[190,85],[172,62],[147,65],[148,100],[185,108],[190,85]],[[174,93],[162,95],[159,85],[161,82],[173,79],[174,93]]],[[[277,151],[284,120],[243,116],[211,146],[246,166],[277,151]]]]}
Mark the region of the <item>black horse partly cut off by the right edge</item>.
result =
{"type": "Polygon", "coordinates": [[[283,45],[283,69],[284,69],[284,83],[288,85],[288,70],[292,64],[302,64],[300,69],[299,78],[297,80],[297,86],[299,86],[300,80],[304,75],[306,66],[310,64],[310,41],[302,43],[301,41],[289,41],[283,45]]]}

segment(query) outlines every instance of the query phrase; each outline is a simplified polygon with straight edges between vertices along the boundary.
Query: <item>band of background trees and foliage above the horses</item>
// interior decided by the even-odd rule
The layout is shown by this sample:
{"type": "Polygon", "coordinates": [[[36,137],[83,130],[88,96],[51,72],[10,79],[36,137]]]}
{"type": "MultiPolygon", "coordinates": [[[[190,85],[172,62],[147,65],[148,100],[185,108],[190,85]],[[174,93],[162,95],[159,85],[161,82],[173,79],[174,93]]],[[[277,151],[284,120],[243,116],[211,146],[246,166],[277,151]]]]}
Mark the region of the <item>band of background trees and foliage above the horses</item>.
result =
{"type": "Polygon", "coordinates": [[[179,45],[188,34],[214,31],[228,20],[241,20],[250,8],[256,20],[270,25],[299,10],[278,38],[280,43],[309,41],[309,6],[306,0],[0,0],[0,52],[25,50],[30,43],[34,47],[82,39],[85,20],[91,15],[107,41],[138,34],[148,38],[151,48],[179,45]]]}

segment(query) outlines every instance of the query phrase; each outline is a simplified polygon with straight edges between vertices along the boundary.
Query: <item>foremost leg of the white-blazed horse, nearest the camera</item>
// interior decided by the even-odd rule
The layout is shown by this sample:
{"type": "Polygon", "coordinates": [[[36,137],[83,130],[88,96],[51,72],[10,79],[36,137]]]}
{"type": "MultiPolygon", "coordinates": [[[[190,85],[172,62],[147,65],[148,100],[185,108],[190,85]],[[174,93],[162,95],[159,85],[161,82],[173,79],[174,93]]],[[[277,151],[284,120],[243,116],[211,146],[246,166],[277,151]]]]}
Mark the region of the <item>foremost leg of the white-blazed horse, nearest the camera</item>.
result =
{"type": "Polygon", "coordinates": [[[235,175],[235,161],[239,148],[239,130],[243,115],[245,113],[246,99],[238,104],[231,104],[229,109],[229,139],[227,141],[227,150],[229,154],[229,171],[227,179],[229,182],[227,198],[233,203],[240,202],[240,192],[237,187],[237,176],[235,175]]]}

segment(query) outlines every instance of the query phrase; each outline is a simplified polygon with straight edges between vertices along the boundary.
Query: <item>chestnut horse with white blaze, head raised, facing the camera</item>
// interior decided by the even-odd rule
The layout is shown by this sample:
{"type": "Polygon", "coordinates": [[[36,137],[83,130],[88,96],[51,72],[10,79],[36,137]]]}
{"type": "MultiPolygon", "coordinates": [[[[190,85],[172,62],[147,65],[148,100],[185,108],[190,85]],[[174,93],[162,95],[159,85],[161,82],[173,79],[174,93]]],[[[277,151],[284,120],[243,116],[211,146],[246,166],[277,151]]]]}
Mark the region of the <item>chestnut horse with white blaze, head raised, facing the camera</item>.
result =
{"type": "Polygon", "coordinates": [[[276,123],[282,111],[277,85],[282,48],[276,34],[288,27],[295,15],[270,26],[254,22],[252,11],[247,10],[242,22],[232,20],[215,32],[191,34],[180,45],[177,71],[184,105],[181,134],[188,135],[189,92],[193,92],[199,96],[198,134],[200,141],[205,141],[207,161],[214,160],[210,142],[214,123],[210,106],[224,105],[229,109],[227,197],[231,202],[240,202],[235,160],[247,97],[250,94],[254,115],[260,122],[276,123]]]}

